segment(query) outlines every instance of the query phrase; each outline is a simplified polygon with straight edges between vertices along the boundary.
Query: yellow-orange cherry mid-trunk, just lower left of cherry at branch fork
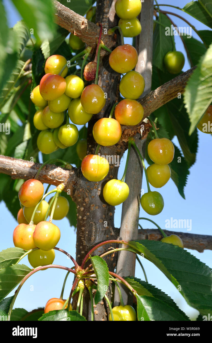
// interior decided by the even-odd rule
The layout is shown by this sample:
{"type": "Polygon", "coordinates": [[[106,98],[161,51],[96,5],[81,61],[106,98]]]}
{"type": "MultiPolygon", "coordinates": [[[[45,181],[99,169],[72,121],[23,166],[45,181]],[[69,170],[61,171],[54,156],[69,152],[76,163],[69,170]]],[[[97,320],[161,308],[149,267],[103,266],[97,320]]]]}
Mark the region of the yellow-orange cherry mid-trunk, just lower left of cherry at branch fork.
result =
{"type": "Polygon", "coordinates": [[[113,118],[101,118],[94,124],[93,136],[99,145],[114,145],[122,137],[121,125],[113,118]]]}

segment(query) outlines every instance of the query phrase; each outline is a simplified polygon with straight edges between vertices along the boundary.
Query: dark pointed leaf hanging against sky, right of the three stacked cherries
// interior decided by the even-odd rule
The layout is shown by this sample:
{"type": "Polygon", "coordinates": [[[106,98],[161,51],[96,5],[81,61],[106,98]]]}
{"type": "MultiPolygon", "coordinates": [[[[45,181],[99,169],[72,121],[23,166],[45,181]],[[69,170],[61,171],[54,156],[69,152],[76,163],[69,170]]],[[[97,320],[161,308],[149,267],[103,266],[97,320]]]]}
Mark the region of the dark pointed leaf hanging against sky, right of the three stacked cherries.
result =
{"type": "Polygon", "coordinates": [[[181,197],[185,199],[184,187],[187,183],[189,170],[185,158],[176,145],[174,145],[174,158],[169,163],[169,167],[171,169],[171,179],[177,186],[181,197]]]}

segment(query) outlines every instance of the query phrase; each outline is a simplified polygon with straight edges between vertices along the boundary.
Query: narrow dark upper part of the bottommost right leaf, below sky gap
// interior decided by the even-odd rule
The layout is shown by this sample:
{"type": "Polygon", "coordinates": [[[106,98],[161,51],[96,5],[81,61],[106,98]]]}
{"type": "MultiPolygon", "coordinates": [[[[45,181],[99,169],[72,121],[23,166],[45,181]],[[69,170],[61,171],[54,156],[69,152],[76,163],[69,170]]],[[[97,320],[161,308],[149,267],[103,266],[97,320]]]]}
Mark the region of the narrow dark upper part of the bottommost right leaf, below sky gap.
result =
{"type": "Polygon", "coordinates": [[[161,300],[171,306],[175,311],[179,312],[179,314],[184,318],[184,320],[189,320],[186,314],[181,311],[181,309],[175,304],[174,300],[170,298],[166,293],[162,292],[160,289],[156,288],[155,286],[149,284],[148,282],[142,281],[137,279],[136,277],[129,277],[125,279],[138,295],[141,296],[153,296],[154,298],[161,300]]]}

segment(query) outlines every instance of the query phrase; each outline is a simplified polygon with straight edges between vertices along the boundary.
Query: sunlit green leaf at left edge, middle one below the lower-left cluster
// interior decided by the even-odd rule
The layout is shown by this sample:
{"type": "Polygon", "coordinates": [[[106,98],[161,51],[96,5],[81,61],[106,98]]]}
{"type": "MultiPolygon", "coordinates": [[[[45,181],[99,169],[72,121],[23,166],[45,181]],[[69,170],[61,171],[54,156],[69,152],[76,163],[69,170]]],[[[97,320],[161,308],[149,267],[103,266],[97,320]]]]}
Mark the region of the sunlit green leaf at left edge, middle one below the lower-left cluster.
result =
{"type": "Polygon", "coordinates": [[[24,264],[13,264],[0,269],[0,301],[15,288],[31,269],[24,264]]]}

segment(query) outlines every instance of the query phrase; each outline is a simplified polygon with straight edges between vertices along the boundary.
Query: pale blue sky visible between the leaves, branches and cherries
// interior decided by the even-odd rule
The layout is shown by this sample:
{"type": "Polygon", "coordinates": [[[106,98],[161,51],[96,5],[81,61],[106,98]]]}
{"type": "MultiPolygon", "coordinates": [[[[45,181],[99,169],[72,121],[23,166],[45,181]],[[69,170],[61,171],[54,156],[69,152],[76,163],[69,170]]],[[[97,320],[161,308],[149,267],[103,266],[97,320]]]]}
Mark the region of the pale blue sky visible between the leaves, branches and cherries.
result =
{"type": "MultiPolygon", "coordinates": [[[[13,26],[17,20],[19,20],[19,15],[14,9],[13,5],[9,0],[3,1],[6,10],[8,12],[8,24],[13,26]]],[[[175,4],[173,0],[171,1],[161,1],[162,3],[166,2],[167,4],[175,4]]],[[[177,5],[183,7],[187,1],[179,0],[177,5]]],[[[166,9],[166,7],[163,7],[166,9]]],[[[167,8],[168,11],[172,11],[171,7],[167,8]]],[[[183,13],[179,10],[174,10],[174,12],[183,15],[187,20],[192,22],[192,24],[197,29],[208,29],[203,24],[199,23],[197,20],[194,20],[192,17],[183,13]]],[[[172,16],[171,16],[172,17],[172,16]]],[[[176,18],[172,17],[174,23],[177,26],[186,26],[186,24],[176,18]]],[[[145,34],[145,33],[144,33],[145,34]]],[[[196,33],[193,31],[192,36],[198,38],[196,33]]],[[[131,43],[129,38],[125,38],[126,43],[131,43]]],[[[175,37],[176,50],[183,52],[186,56],[183,44],[179,36],[175,37]]],[[[186,59],[184,71],[189,69],[189,64],[186,59]]],[[[164,210],[154,216],[153,219],[161,228],[165,228],[165,221],[167,219],[186,219],[192,220],[192,230],[188,231],[193,234],[206,234],[211,235],[211,146],[212,146],[212,137],[210,134],[204,134],[198,131],[199,134],[199,147],[197,153],[196,163],[190,168],[190,175],[188,176],[188,182],[185,187],[185,197],[184,200],[180,194],[173,181],[170,179],[168,184],[160,189],[160,192],[164,198],[164,210]]],[[[178,141],[174,138],[174,143],[179,146],[178,141]]],[[[122,177],[126,161],[126,154],[123,156],[121,161],[121,166],[119,168],[119,177],[122,177]]],[[[148,164],[146,164],[146,167],[148,164]]],[[[44,189],[45,189],[44,185],[44,189]]],[[[147,191],[145,178],[143,179],[142,188],[144,191],[147,191]]],[[[51,188],[50,188],[51,189],[51,188]]],[[[156,190],[152,188],[153,190],[156,190]]],[[[48,201],[48,198],[47,198],[48,201]]],[[[116,206],[115,211],[115,226],[120,227],[121,223],[121,210],[122,205],[116,206]]],[[[17,226],[17,222],[14,220],[10,212],[6,209],[3,202],[0,203],[0,213],[1,213],[1,227],[4,235],[0,240],[0,250],[6,249],[8,247],[13,247],[13,230],[17,226]]],[[[146,214],[141,210],[140,216],[146,216],[146,214]]],[[[75,244],[76,244],[76,235],[74,228],[69,226],[67,218],[64,218],[61,221],[54,221],[56,225],[60,227],[61,238],[58,246],[62,249],[68,251],[73,257],[75,256],[75,244]]],[[[143,228],[153,228],[154,225],[142,221],[140,223],[143,228]]],[[[176,231],[185,231],[185,229],[176,229],[176,231]]],[[[199,253],[195,250],[188,250],[202,262],[206,263],[211,267],[212,260],[212,251],[206,250],[203,253],[199,253]]],[[[62,253],[55,251],[56,257],[54,263],[66,265],[67,267],[72,267],[72,263],[69,259],[62,253]]],[[[23,263],[29,265],[27,257],[23,259],[23,263]]],[[[198,311],[192,309],[187,305],[186,301],[179,294],[173,284],[162,274],[151,262],[147,260],[142,260],[143,266],[146,270],[147,278],[149,283],[155,285],[159,289],[162,289],[165,293],[174,299],[174,301],[180,306],[182,310],[186,312],[188,316],[196,317],[198,311]]],[[[29,265],[30,266],[30,265],[29,265]]],[[[18,294],[18,297],[15,301],[15,308],[23,307],[26,310],[30,311],[37,307],[44,307],[47,300],[52,297],[59,297],[61,292],[61,287],[63,279],[66,272],[59,269],[53,270],[49,269],[46,271],[40,271],[32,275],[24,284],[21,291],[18,294]]],[[[136,265],[136,277],[144,280],[142,270],[139,265],[136,265]]],[[[70,292],[70,287],[72,285],[73,276],[69,275],[67,285],[65,288],[64,298],[67,298],[70,292]]],[[[11,295],[13,292],[11,293],[11,295]]]]}

